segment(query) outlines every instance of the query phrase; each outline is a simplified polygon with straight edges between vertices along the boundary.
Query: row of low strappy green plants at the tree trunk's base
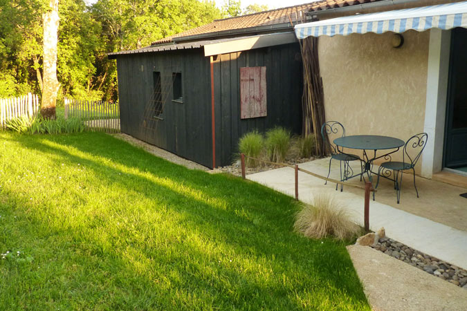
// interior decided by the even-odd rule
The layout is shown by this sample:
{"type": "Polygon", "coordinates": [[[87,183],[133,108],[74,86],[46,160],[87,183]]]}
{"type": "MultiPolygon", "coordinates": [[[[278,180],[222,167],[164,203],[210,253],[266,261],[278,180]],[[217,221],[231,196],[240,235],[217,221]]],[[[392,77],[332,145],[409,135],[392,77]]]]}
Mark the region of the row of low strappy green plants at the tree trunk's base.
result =
{"type": "Polygon", "coordinates": [[[18,133],[81,133],[84,131],[84,124],[77,117],[71,117],[65,120],[63,117],[57,117],[56,120],[43,119],[40,115],[34,118],[16,117],[6,122],[6,129],[18,133]]]}

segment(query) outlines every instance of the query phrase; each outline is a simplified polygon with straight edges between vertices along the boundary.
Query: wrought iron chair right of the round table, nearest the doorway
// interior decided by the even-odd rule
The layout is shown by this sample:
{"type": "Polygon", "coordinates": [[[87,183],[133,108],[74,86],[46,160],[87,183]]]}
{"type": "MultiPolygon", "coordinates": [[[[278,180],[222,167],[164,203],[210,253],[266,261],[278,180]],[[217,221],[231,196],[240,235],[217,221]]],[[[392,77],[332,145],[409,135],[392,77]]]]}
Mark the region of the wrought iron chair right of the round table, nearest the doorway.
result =
{"type": "MultiPolygon", "coordinates": [[[[387,178],[394,182],[394,189],[396,189],[396,198],[397,204],[401,200],[401,185],[402,185],[402,175],[403,171],[412,169],[414,173],[414,187],[416,191],[416,197],[419,198],[419,191],[416,189],[415,185],[415,164],[419,160],[423,149],[425,149],[426,141],[428,140],[427,133],[420,133],[413,135],[407,142],[405,142],[403,153],[402,153],[402,162],[391,161],[389,156],[389,162],[384,162],[380,165],[378,169],[378,180],[376,181],[376,188],[378,188],[379,177],[387,178]],[[383,175],[381,175],[383,173],[383,175]],[[390,176],[393,176],[391,178],[390,176]],[[400,176],[400,178],[399,178],[400,176]]],[[[374,193],[373,193],[374,200],[374,193]]]]}

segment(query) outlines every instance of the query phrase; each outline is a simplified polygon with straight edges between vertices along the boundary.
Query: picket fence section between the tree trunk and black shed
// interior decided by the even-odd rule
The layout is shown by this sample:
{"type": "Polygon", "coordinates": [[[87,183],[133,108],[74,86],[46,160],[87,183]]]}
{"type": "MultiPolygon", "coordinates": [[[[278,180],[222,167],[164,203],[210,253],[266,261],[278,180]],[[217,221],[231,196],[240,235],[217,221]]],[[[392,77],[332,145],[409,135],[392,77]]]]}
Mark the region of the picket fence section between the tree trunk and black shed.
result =
{"type": "Polygon", "coordinates": [[[79,117],[92,131],[120,132],[120,107],[118,103],[64,100],[64,117],[79,117]]]}

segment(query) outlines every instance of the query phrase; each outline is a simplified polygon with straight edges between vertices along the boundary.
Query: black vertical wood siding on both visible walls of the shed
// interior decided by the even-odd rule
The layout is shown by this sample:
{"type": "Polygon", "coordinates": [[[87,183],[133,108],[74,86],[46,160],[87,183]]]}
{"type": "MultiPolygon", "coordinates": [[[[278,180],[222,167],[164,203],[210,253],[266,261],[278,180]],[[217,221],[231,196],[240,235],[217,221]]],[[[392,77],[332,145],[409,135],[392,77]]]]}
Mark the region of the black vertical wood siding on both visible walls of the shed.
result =
{"type": "MultiPolygon", "coordinates": [[[[212,167],[210,59],[202,49],[121,55],[118,61],[120,128],[135,138],[212,167]],[[142,67],[143,66],[143,67],[142,67]],[[183,104],[172,89],[156,129],[143,126],[153,71],[182,73],[183,104]]],[[[216,166],[228,165],[244,133],[280,125],[300,133],[302,63],[298,44],[220,55],[214,61],[216,166]],[[266,66],[267,116],[240,120],[239,68],[266,66]]]]}

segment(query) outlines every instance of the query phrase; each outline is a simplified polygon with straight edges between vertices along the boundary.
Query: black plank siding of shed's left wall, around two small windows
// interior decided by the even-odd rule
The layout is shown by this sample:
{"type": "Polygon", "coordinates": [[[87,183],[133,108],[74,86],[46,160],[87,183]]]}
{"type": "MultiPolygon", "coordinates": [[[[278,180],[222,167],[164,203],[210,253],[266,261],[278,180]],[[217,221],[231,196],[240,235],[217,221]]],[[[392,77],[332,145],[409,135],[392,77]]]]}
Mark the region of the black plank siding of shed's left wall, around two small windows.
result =
{"type": "Polygon", "coordinates": [[[202,50],[122,55],[117,62],[122,132],[211,167],[210,63],[202,50]],[[154,71],[165,78],[181,72],[183,84],[183,104],[172,102],[172,88],[165,90],[163,120],[156,121],[155,129],[143,125],[154,71]]]}

